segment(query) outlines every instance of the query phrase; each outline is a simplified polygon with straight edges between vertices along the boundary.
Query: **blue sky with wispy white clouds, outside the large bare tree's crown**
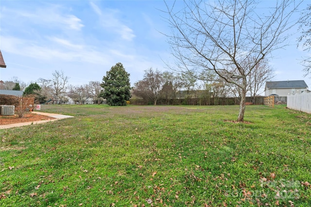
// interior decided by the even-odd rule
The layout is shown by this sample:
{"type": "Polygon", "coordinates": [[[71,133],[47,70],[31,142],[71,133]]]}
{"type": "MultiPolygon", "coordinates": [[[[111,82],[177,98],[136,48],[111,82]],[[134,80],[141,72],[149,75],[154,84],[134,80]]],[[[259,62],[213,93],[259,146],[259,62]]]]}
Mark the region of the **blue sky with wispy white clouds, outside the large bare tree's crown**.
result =
{"type": "MultiPolygon", "coordinates": [[[[301,8],[307,4],[311,0],[301,8]]],[[[15,76],[29,84],[62,70],[69,84],[83,85],[102,81],[121,62],[133,85],[144,70],[165,70],[164,62],[173,63],[161,34],[170,28],[160,10],[165,10],[162,0],[1,0],[0,49],[7,68],[0,69],[0,80],[15,76]]],[[[293,31],[290,45],[273,53],[274,80],[305,80],[311,88],[299,64],[308,54],[296,47],[297,27],[293,31]]]]}

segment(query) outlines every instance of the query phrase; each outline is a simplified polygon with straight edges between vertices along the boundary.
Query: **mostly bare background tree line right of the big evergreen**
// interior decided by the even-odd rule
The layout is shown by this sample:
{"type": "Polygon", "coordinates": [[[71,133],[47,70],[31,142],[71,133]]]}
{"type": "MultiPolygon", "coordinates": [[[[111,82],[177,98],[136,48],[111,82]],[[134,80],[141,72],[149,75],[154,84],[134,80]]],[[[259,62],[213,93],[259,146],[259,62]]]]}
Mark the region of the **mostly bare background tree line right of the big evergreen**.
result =
{"type": "MultiPolygon", "coordinates": [[[[251,64],[252,59],[249,60],[251,64]]],[[[273,68],[266,62],[261,61],[246,76],[246,93],[254,101],[256,96],[262,93],[262,87],[267,80],[274,77],[273,68]]],[[[241,101],[242,90],[236,84],[221,80],[213,71],[187,72],[161,72],[158,69],[145,70],[143,80],[134,84],[132,94],[136,98],[142,98],[145,102],[157,104],[159,99],[165,100],[165,104],[176,103],[176,99],[188,99],[198,97],[200,91],[203,97],[217,98],[235,97],[241,101]]]]}

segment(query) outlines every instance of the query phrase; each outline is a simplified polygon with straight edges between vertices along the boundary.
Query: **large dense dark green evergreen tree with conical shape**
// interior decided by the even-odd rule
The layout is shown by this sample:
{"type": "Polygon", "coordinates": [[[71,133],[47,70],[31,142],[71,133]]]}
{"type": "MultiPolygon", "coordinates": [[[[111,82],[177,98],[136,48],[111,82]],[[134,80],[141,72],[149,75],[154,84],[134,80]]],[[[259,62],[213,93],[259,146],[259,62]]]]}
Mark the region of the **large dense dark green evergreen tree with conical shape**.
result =
{"type": "Polygon", "coordinates": [[[130,74],[121,63],[117,63],[107,71],[101,86],[104,89],[101,96],[110,106],[125,106],[131,97],[130,74]]]}

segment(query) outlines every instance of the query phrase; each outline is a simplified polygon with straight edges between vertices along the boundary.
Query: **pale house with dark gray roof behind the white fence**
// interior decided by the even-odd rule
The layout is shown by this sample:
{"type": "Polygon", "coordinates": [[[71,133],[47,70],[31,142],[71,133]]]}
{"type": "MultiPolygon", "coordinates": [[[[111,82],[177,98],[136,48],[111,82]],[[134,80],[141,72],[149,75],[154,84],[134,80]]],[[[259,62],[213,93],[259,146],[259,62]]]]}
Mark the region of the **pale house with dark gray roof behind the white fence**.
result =
{"type": "Polygon", "coordinates": [[[264,95],[287,96],[305,91],[308,91],[308,85],[304,80],[267,81],[264,95]]]}

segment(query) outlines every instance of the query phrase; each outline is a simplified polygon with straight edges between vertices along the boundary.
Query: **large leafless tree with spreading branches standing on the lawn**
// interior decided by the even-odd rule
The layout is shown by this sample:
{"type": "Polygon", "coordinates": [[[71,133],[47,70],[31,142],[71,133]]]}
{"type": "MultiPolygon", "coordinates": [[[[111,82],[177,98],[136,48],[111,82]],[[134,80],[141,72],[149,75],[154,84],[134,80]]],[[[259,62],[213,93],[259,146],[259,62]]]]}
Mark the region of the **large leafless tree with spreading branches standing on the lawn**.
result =
{"type": "MultiPolygon", "coordinates": [[[[167,34],[176,67],[182,71],[213,70],[222,80],[242,91],[238,121],[244,120],[247,76],[271,52],[285,45],[285,32],[291,28],[294,1],[273,1],[259,14],[256,0],[186,1],[184,8],[167,6],[167,34]],[[249,57],[254,62],[243,67],[249,57]],[[228,70],[228,68],[230,70],[228,70]],[[234,68],[233,70],[231,70],[234,68]]],[[[195,74],[194,74],[195,75],[195,74]]],[[[199,77],[197,77],[199,78],[199,77]]]]}

